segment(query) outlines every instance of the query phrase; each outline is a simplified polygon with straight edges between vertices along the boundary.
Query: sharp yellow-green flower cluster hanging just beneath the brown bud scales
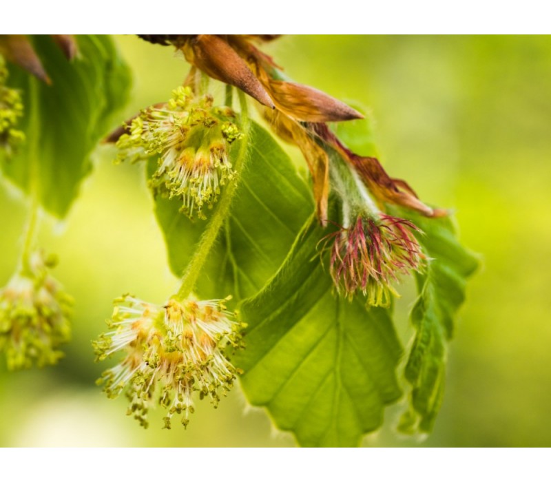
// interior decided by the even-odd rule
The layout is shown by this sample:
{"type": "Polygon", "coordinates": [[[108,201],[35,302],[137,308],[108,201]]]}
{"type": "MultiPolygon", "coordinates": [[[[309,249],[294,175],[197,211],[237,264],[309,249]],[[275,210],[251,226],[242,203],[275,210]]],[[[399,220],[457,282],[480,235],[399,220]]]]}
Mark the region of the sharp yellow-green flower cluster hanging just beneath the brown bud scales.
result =
{"type": "Polygon", "coordinates": [[[189,87],[174,90],[168,103],[145,109],[117,141],[119,160],[158,155],[154,187],[181,198],[182,211],[205,218],[220,188],[233,179],[229,145],[242,137],[229,107],[214,107],[209,95],[189,87]]]}

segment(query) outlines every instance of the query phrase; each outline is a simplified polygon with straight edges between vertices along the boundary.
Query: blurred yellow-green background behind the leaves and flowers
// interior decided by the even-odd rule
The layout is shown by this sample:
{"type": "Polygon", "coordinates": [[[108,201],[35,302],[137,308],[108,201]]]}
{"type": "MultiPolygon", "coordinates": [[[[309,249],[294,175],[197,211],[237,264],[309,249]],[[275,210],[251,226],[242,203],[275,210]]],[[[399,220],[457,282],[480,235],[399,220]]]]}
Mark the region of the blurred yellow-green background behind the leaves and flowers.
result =
{"type": "MultiPolygon", "coordinates": [[[[125,115],[183,81],[187,64],[170,48],[116,41],[135,74],[125,115]]],[[[364,444],[550,446],[551,37],[286,36],[267,50],[296,81],[368,106],[391,176],[455,208],[461,239],[484,258],[450,346],[433,434],[398,437],[400,408],[390,408],[364,444]]],[[[125,417],[123,397],[108,400],[94,386],[103,367],[90,340],[105,331],[112,299],[131,291],[163,302],[177,284],[143,166],[113,157],[98,149],[70,216],[43,223],[41,244],[61,258],[54,274],[76,298],[73,340],[59,366],[0,370],[0,445],[293,446],[239,388],[216,411],[198,404],[187,430],[169,431],[162,410],[143,430],[125,417]]],[[[23,200],[1,189],[0,284],[17,264],[25,217],[23,200]]],[[[397,311],[404,344],[412,299],[404,295],[397,311]]]]}

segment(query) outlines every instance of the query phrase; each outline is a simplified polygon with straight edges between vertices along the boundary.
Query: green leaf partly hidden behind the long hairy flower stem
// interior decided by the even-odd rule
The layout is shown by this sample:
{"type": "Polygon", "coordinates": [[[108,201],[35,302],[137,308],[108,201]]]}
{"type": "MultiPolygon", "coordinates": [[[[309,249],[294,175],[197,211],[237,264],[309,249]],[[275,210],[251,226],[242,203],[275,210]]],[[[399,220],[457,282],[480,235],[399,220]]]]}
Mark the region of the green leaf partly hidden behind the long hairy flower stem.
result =
{"type": "MultiPolygon", "coordinates": [[[[270,134],[253,124],[250,142],[250,158],[231,205],[231,216],[196,286],[198,295],[205,299],[231,294],[241,300],[256,294],[277,271],[313,211],[309,187],[270,134]]],[[[156,160],[152,160],[149,175],[155,169],[156,160]]],[[[155,199],[169,264],[177,276],[185,270],[208,222],[189,220],[179,212],[180,207],[178,199],[155,199]]]]}

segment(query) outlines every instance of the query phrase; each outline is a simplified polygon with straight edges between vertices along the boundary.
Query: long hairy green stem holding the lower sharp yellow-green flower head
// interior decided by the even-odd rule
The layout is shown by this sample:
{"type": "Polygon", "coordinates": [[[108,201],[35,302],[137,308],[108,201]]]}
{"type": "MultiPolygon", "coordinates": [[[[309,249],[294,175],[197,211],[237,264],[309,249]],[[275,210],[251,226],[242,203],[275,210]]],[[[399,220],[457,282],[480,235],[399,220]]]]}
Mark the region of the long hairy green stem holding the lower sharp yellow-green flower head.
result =
{"type": "Polygon", "coordinates": [[[243,137],[239,141],[240,145],[238,154],[235,162],[233,163],[233,169],[236,171],[237,176],[236,179],[233,180],[233,182],[230,182],[220,194],[220,199],[214,208],[211,220],[209,221],[209,224],[207,224],[205,232],[202,233],[199,246],[185,269],[182,277],[182,284],[178,290],[178,293],[176,293],[176,298],[178,300],[185,300],[185,298],[187,298],[191,292],[194,291],[202,267],[207,261],[209,253],[214,246],[214,242],[216,242],[216,238],[218,238],[220,230],[224,227],[224,222],[227,219],[229,209],[231,207],[231,201],[237,191],[240,174],[243,171],[243,167],[245,167],[245,162],[247,160],[247,149],[249,147],[249,130],[251,127],[251,121],[249,120],[249,112],[247,109],[247,98],[241,91],[238,91],[238,94],[239,103],[241,106],[241,129],[243,137]]]}

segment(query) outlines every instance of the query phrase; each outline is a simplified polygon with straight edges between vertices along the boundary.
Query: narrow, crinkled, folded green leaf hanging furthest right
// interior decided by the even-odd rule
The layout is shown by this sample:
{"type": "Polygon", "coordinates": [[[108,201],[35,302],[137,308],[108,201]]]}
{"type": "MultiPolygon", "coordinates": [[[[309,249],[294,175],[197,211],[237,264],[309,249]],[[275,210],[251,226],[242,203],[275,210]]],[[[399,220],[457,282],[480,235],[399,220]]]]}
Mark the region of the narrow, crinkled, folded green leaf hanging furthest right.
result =
{"type": "Polygon", "coordinates": [[[424,231],[419,242],[432,259],[426,272],[417,275],[419,297],[411,311],[416,333],[405,368],[410,406],[399,430],[430,432],[444,395],[447,342],[465,300],[466,281],[479,262],[459,243],[452,219],[427,219],[410,212],[402,216],[424,231]]]}

